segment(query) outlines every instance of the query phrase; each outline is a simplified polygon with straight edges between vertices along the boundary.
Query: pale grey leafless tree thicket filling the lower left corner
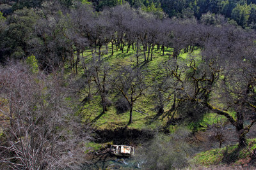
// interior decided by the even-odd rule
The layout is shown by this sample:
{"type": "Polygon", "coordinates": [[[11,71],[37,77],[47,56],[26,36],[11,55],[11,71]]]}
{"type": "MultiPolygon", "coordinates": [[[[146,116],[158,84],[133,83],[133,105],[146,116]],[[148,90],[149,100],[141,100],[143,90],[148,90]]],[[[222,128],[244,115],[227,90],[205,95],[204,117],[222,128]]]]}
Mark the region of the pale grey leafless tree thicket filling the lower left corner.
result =
{"type": "Polygon", "coordinates": [[[89,129],[74,115],[70,88],[59,72],[0,67],[1,167],[74,168],[84,157],[89,129]]]}

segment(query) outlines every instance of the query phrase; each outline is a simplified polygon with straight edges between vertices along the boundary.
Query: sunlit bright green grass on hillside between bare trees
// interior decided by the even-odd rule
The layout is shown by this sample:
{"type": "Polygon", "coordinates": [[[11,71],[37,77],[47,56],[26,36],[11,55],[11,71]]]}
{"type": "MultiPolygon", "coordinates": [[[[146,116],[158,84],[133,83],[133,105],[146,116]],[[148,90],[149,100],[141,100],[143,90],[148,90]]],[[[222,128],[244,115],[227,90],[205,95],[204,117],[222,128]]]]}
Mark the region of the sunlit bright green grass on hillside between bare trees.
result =
{"type": "MultiPolygon", "coordinates": [[[[127,47],[125,46],[124,52],[122,53],[121,50],[118,50],[114,53],[114,55],[111,55],[111,45],[108,46],[108,54],[104,54],[101,57],[102,60],[104,60],[105,63],[108,63],[109,66],[112,68],[111,71],[116,71],[117,69],[120,69],[125,66],[132,66],[136,67],[136,51],[130,50],[127,52],[127,47]]],[[[141,47],[142,48],[142,47],[141,47]]],[[[152,89],[152,85],[156,83],[157,79],[163,76],[163,64],[168,59],[170,59],[170,54],[172,54],[172,48],[168,48],[164,50],[163,52],[160,52],[160,50],[156,50],[156,47],[154,48],[152,61],[149,62],[143,62],[143,52],[140,52],[140,68],[144,71],[145,76],[145,83],[147,85],[147,89],[144,91],[144,94],[134,104],[134,110],[132,112],[132,118],[133,123],[129,125],[131,128],[136,129],[143,129],[145,127],[149,129],[154,129],[155,127],[159,125],[164,125],[167,121],[167,118],[164,118],[163,120],[161,118],[150,121],[154,116],[156,115],[156,98],[154,97],[154,89],[152,89]],[[142,111],[143,113],[137,112],[138,110],[142,111]]],[[[102,51],[106,51],[106,47],[102,49],[102,51]]],[[[200,53],[200,50],[195,50],[193,54],[198,55],[200,53]]],[[[184,53],[181,52],[179,55],[180,62],[184,62],[184,60],[188,59],[188,55],[191,55],[192,53],[184,53]]],[[[90,59],[92,59],[92,52],[84,52],[83,53],[85,62],[90,62],[90,59]]],[[[68,67],[66,67],[68,69],[68,67]]],[[[83,76],[84,71],[82,69],[82,64],[79,64],[78,67],[78,74],[83,76]]],[[[111,78],[111,71],[107,76],[108,78],[111,78]]],[[[92,85],[95,86],[95,83],[92,82],[92,85]]],[[[93,92],[96,92],[97,89],[93,87],[93,92]]],[[[83,93],[83,90],[81,92],[81,100],[86,97],[86,94],[83,93]]],[[[108,107],[108,111],[101,115],[102,113],[102,106],[100,103],[100,96],[96,95],[92,97],[92,100],[88,103],[85,103],[83,106],[82,114],[84,117],[84,121],[93,121],[96,117],[99,115],[100,118],[95,121],[95,126],[98,129],[115,129],[116,127],[124,127],[127,122],[129,121],[129,110],[125,111],[125,113],[118,113],[118,111],[115,108],[115,103],[120,96],[120,94],[116,92],[109,92],[108,99],[111,101],[111,106],[108,107]]],[[[169,110],[171,107],[171,104],[166,104],[165,110],[169,110]],[[169,106],[170,105],[170,106],[169,106]]]]}

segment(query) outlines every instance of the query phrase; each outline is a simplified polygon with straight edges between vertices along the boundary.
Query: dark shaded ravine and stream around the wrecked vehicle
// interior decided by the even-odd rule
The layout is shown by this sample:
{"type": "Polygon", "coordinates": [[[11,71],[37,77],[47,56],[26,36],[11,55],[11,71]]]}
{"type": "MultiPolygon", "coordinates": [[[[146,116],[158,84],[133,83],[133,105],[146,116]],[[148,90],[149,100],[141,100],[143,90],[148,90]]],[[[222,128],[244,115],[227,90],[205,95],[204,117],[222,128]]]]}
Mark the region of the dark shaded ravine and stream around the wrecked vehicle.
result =
{"type": "MultiPolygon", "coordinates": [[[[116,129],[97,129],[95,132],[96,143],[113,143],[113,145],[129,145],[136,149],[139,145],[154,138],[154,132],[150,130],[129,129],[120,127],[116,129]]],[[[88,162],[81,169],[141,169],[138,157],[113,157],[109,148],[99,152],[90,153],[88,162]]]]}

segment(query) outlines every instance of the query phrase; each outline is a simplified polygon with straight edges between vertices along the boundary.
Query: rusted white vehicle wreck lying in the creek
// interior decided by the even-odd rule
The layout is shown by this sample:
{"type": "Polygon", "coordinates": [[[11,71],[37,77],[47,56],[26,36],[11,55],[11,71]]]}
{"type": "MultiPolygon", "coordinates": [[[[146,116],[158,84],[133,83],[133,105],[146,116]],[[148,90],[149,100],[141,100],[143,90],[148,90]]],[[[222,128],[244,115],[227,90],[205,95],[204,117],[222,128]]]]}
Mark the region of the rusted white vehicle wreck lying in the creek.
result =
{"type": "Polygon", "coordinates": [[[130,157],[134,155],[134,147],[125,145],[112,145],[111,153],[118,157],[130,157]]]}

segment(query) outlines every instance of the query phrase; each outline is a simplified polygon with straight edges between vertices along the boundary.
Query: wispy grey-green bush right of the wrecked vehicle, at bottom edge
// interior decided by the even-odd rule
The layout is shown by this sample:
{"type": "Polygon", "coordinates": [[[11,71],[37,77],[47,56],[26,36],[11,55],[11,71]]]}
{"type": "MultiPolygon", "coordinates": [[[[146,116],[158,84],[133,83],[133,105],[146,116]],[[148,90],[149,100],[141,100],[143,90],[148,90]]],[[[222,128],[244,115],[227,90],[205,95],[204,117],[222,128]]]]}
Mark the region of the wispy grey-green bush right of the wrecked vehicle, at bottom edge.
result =
{"type": "Polygon", "coordinates": [[[189,131],[180,128],[169,136],[158,134],[140,153],[145,169],[180,169],[188,166],[189,146],[184,142],[189,131]]]}

